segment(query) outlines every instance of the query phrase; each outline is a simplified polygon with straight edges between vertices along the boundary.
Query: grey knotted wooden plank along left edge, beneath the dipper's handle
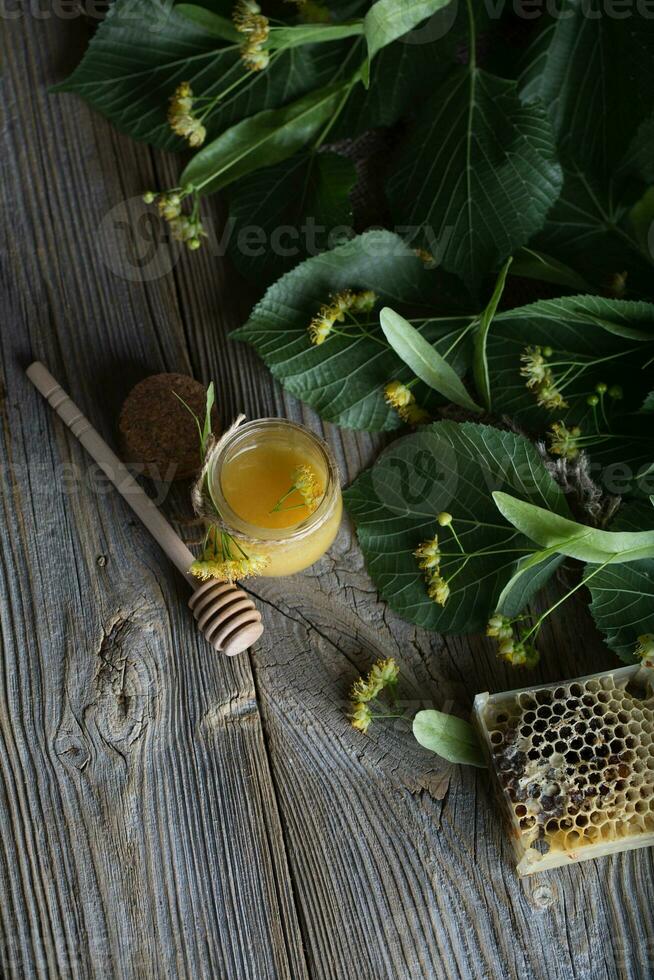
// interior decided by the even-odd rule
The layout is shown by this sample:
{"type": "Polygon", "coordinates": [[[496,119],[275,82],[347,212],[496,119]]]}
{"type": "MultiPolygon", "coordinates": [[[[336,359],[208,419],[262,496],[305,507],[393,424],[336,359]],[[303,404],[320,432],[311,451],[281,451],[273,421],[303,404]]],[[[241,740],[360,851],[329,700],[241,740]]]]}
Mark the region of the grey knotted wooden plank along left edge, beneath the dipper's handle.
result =
{"type": "Polygon", "coordinates": [[[46,94],[81,28],[23,18],[4,65],[0,961],[302,977],[249,661],[206,646],[184,584],[23,375],[42,357],[111,438],[137,377],[188,368],[172,277],[129,281],[97,250],[152,181],[149,151],[46,94]]]}

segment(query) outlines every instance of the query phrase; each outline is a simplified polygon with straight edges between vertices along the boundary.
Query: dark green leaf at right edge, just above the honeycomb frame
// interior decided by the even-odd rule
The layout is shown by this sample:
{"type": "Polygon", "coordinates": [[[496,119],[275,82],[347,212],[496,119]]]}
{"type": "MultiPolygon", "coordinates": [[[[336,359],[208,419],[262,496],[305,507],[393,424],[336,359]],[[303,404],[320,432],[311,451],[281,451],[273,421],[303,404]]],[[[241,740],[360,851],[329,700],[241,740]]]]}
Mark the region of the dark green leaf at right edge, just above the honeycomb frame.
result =
{"type": "MultiPolygon", "coordinates": [[[[612,527],[654,528],[649,503],[629,504],[612,527]]],[[[607,565],[588,583],[590,611],[607,645],[627,663],[634,663],[638,637],[654,633],[654,560],[607,565]]]]}

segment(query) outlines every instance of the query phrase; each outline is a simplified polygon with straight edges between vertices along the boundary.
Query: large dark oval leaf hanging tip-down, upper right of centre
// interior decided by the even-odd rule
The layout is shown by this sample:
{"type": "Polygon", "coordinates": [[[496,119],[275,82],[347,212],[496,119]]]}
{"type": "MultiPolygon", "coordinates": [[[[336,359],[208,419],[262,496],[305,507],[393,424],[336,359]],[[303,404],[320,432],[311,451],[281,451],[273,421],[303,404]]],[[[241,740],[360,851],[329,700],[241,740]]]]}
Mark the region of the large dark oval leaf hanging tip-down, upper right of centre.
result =
{"type": "Polygon", "coordinates": [[[544,109],[468,66],[419,110],[388,192],[395,221],[476,289],[542,227],[561,183],[544,109]]]}

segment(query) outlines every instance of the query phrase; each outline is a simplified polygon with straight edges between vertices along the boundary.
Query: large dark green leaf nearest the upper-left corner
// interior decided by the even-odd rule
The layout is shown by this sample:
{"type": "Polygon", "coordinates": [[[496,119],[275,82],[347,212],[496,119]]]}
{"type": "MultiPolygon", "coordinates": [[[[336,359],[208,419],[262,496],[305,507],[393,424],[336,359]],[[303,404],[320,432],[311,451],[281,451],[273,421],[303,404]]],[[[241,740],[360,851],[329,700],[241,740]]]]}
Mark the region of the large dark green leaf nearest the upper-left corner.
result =
{"type": "Polygon", "coordinates": [[[81,63],[54,91],[81,96],[133,139],[186,150],[166,118],[180,82],[190,82],[203,99],[230,89],[205,119],[211,140],[246,116],[338,77],[349,47],[345,41],[293,48],[275,55],[265,71],[250,72],[240,42],[221,44],[206,25],[166,0],[114,0],[81,63]]]}

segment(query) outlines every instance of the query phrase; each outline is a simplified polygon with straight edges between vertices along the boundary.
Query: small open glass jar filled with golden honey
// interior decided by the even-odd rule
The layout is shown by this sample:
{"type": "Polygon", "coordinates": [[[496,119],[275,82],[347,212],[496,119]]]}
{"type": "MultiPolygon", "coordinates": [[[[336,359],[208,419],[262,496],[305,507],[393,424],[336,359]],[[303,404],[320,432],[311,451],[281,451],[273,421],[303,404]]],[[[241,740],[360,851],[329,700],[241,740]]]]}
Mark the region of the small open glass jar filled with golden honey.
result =
{"type": "Polygon", "coordinates": [[[304,426],[276,418],[240,426],[214,456],[207,476],[223,528],[248,554],[268,559],[262,575],[293,575],[333,543],[343,513],[338,467],[329,446],[304,426]],[[297,502],[297,492],[280,505],[302,466],[322,491],[311,512],[297,502]]]}

